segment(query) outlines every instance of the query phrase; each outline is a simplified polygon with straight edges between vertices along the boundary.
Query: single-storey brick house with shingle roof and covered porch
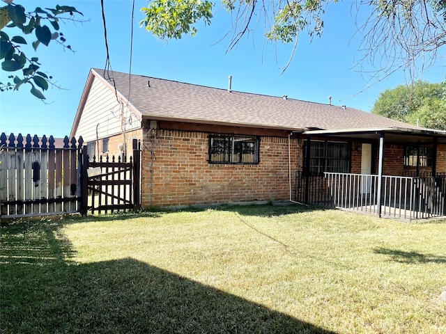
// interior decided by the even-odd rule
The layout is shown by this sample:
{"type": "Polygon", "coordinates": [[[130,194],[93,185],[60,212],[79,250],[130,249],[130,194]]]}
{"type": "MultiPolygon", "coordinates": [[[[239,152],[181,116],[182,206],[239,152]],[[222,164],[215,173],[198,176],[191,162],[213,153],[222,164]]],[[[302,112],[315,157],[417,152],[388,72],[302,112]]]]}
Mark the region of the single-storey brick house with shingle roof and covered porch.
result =
{"type": "Polygon", "coordinates": [[[127,154],[137,139],[144,207],[309,202],[309,178],[323,173],[446,172],[444,132],[348,106],[238,92],[231,81],[220,89],[92,69],[71,136],[96,157],[127,154]]]}

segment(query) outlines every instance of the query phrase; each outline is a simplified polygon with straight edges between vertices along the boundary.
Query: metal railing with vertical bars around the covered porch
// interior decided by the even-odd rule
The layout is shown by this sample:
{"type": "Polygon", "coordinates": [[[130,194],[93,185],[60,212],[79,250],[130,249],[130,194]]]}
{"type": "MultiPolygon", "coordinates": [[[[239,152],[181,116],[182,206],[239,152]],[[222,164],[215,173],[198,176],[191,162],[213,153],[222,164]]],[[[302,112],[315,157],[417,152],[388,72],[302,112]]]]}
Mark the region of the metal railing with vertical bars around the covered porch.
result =
{"type": "Polygon", "coordinates": [[[446,215],[446,175],[295,175],[295,200],[408,220],[446,215]],[[379,190],[380,189],[380,192],[379,190]]]}

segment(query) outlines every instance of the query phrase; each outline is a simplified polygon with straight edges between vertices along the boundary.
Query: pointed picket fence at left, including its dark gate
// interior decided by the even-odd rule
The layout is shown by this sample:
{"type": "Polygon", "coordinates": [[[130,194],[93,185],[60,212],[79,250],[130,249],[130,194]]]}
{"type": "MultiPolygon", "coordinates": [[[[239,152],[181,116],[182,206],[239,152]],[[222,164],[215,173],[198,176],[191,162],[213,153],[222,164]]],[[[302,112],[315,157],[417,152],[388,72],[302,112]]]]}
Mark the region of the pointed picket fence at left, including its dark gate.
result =
{"type": "Polygon", "coordinates": [[[107,213],[140,205],[140,154],[89,161],[82,137],[0,136],[0,217],[107,213]]]}

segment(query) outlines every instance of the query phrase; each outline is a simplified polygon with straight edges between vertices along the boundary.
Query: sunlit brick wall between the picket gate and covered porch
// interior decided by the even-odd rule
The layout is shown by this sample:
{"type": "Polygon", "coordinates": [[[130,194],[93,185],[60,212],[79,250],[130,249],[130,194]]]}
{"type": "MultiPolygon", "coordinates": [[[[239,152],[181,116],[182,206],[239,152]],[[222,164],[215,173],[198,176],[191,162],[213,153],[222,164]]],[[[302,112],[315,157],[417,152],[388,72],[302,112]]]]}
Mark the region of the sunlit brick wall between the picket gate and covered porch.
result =
{"type": "MultiPolygon", "coordinates": [[[[291,145],[294,172],[300,164],[298,140],[291,139],[291,145]]],[[[142,205],[289,199],[288,138],[261,137],[260,159],[254,165],[209,164],[208,134],[157,130],[144,140],[142,205]]]]}

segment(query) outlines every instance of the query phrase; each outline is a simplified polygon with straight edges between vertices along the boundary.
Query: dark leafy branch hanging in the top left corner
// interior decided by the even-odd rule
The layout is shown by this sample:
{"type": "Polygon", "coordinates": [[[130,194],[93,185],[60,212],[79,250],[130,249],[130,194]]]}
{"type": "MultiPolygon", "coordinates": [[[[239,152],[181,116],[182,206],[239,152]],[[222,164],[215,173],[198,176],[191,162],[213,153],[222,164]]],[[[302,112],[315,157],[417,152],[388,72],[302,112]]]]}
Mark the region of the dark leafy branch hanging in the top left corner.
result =
{"type": "Polygon", "coordinates": [[[9,81],[0,82],[0,91],[18,90],[23,84],[31,85],[31,94],[40,100],[45,100],[43,91],[47,90],[49,84],[52,84],[52,76],[45,74],[40,69],[38,57],[26,56],[22,51],[22,45],[27,45],[26,38],[33,36],[36,40],[31,42],[36,51],[40,44],[45,46],[54,40],[66,49],[71,49],[66,44],[66,38],[59,31],[59,22],[61,20],[73,20],[72,16],[77,13],[82,15],[72,6],[59,6],[55,8],[37,7],[32,12],[26,13],[23,6],[8,1],[6,6],[0,8],[0,61],[1,70],[15,74],[8,75],[9,81]],[[67,17],[68,14],[68,17],[67,17]],[[10,29],[19,35],[10,37],[6,33],[10,29]]]}

